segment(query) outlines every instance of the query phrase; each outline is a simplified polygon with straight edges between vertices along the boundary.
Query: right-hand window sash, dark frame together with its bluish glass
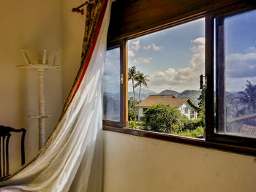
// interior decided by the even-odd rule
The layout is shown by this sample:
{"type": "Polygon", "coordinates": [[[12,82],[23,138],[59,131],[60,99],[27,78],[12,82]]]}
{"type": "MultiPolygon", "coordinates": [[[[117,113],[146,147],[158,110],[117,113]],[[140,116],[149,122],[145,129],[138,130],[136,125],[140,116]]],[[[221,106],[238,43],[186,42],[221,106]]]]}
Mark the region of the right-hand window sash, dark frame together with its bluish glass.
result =
{"type": "Polygon", "coordinates": [[[211,139],[255,146],[256,10],[220,12],[210,19],[216,74],[216,126],[211,139]]]}

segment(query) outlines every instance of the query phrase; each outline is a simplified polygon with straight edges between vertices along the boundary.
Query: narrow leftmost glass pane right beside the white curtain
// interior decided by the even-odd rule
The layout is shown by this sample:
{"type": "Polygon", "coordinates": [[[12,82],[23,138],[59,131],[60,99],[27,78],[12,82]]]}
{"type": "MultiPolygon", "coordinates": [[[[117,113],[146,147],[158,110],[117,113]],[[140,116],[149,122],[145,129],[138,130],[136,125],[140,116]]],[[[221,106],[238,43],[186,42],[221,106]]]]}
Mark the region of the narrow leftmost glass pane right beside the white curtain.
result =
{"type": "Polygon", "coordinates": [[[108,50],[103,76],[103,119],[120,121],[120,48],[108,50]]]}

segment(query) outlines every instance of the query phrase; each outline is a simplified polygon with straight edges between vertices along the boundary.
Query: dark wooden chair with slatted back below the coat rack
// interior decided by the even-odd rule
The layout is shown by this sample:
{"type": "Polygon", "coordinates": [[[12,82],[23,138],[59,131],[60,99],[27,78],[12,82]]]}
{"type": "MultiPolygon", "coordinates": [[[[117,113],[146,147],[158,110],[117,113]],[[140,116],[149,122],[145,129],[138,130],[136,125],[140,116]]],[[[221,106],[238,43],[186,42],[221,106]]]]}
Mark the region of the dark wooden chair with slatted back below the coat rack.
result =
{"type": "Polygon", "coordinates": [[[21,136],[21,165],[25,164],[24,140],[26,129],[15,129],[8,126],[0,126],[0,177],[9,175],[9,139],[10,132],[22,132],[21,136]]]}

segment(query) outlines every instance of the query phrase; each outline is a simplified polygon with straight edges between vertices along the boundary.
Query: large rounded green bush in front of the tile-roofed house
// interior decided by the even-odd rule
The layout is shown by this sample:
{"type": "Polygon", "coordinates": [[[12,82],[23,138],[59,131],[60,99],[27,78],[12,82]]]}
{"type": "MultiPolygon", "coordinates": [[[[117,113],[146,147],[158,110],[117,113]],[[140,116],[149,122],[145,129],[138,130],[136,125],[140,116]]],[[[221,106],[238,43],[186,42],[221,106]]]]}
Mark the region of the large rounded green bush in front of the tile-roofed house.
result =
{"type": "Polygon", "coordinates": [[[157,131],[167,134],[181,131],[184,127],[184,118],[176,107],[169,104],[157,104],[145,112],[145,125],[148,131],[157,131]]]}

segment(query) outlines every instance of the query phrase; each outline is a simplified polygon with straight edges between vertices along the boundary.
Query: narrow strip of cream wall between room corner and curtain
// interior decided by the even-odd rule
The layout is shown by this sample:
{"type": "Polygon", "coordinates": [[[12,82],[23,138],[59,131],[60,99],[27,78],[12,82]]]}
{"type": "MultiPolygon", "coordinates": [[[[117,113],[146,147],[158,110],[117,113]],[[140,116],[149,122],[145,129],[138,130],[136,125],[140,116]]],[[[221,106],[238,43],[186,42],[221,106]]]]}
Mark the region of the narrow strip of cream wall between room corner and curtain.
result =
{"type": "MultiPolygon", "coordinates": [[[[85,15],[71,12],[73,7],[83,4],[83,0],[62,0],[62,93],[63,103],[75,81],[80,66],[85,27],[85,15]]],[[[86,9],[86,7],[84,7],[86,9]]],[[[85,10],[86,12],[86,10],[85,10]]]]}

